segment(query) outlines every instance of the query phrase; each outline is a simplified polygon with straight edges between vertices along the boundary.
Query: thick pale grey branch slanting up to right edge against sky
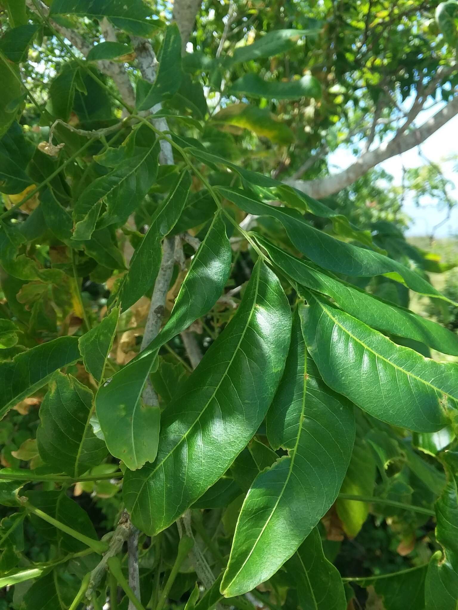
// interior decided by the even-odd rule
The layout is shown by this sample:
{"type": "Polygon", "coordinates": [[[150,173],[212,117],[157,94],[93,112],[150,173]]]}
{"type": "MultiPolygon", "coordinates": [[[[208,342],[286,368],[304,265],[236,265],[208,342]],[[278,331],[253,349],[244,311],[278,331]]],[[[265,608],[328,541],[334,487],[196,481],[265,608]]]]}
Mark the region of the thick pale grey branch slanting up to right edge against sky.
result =
{"type": "Polygon", "coordinates": [[[363,152],[346,170],[322,179],[310,181],[286,179],[284,182],[291,184],[315,199],[333,195],[333,193],[337,193],[353,184],[366,171],[375,167],[378,163],[382,163],[382,161],[408,151],[414,146],[418,146],[457,114],[458,96],[449,101],[448,104],[438,110],[435,115],[425,121],[420,127],[407,133],[398,132],[390,142],[383,142],[378,148],[363,152]]]}

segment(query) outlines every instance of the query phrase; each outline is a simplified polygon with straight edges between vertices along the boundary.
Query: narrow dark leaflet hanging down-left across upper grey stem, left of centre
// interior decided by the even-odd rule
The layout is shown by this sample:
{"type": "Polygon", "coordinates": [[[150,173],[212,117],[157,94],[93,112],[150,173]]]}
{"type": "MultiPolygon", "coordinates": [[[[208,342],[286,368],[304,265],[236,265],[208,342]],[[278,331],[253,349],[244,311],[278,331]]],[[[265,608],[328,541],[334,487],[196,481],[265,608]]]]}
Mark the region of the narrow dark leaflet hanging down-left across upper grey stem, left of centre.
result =
{"type": "Polygon", "coordinates": [[[117,293],[122,311],[139,300],[156,281],[161,265],[161,240],[175,225],[191,187],[187,170],[177,176],[169,196],[161,204],[151,220],[151,226],[132,257],[129,271],[122,279],[117,293]]]}

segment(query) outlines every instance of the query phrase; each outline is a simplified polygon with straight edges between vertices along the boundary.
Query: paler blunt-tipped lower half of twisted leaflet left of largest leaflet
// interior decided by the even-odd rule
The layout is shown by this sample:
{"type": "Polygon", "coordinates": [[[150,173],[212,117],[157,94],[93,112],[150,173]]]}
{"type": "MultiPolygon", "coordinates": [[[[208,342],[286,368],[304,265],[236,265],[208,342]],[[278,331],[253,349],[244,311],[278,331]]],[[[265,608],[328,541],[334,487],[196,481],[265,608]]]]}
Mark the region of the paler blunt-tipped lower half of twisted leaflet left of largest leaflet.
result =
{"type": "Polygon", "coordinates": [[[142,392],[154,361],[145,357],[122,368],[97,392],[96,413],[109,452],[136,470],[158,451],[159,407],[145,404],[142,392]]]}

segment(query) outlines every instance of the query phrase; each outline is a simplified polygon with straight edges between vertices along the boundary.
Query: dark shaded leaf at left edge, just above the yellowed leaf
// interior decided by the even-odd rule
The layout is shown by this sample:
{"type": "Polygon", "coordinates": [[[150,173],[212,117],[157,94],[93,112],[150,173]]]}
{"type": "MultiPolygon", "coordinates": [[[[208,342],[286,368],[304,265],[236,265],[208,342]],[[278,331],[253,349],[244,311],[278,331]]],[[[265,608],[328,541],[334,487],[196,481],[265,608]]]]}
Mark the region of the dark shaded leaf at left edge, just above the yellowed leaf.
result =
{"type": "Polygon", "coordinates": [[[26,166],[31,147],[18,123],[13,123],[0,140],[0,192],[22,193],[32,184],[26,166]]]}

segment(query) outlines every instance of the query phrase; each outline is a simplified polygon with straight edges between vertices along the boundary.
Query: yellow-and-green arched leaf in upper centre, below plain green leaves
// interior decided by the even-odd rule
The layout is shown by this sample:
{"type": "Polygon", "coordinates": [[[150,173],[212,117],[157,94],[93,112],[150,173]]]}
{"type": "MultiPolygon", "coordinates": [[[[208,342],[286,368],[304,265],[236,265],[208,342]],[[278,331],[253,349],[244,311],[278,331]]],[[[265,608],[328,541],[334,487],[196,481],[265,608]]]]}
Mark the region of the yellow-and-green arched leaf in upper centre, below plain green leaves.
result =
{"type": "Polygon", "coordinates": [[[269,138],[277,144],[288,145],[294,141],[294,134],[286,123],[280,121],[267,109],[250,104],[230,104],[213,115],[214,123],[233,125],[249,129],[256,135],[269,138]]]}

